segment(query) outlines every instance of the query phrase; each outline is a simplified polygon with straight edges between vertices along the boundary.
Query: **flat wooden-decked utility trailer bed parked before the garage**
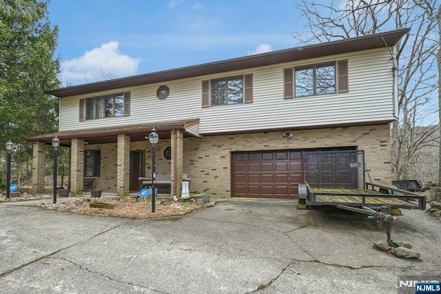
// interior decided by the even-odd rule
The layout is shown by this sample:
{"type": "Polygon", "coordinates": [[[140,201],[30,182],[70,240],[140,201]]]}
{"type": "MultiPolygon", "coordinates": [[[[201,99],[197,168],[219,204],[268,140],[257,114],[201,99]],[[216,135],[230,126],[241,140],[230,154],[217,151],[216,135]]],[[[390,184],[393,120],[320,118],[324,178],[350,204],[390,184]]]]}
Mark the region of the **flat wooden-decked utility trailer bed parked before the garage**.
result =
{"type": "Polygon", "coordinates": [[[306,206],[335,206],[375,216],[384,206],[426,209],[426,196],[396,186],[366,183],[366,189],[320,189],[308,183],[298,185],[298,203],[306,206]]]}

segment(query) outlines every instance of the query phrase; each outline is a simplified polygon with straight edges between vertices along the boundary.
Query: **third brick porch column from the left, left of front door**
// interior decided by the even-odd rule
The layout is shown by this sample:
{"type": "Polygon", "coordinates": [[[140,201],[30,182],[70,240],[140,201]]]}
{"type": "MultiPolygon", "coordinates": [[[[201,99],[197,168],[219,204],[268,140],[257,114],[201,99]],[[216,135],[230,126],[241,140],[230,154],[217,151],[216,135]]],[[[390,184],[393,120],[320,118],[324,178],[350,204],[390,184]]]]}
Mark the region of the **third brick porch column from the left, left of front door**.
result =
{"type": "Polygon", "coordinates": [[[128,196],[130,192],[130,136],[118,135],[118,155],[116,162],[116,193],[128,196]]]}

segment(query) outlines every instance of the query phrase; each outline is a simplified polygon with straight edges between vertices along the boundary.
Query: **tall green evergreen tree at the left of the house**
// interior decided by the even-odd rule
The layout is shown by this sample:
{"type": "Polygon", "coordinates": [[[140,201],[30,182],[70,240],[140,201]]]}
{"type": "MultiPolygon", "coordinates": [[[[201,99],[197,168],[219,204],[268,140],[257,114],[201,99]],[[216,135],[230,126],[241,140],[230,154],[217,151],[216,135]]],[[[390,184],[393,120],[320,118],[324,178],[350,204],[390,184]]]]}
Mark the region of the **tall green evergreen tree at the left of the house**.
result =
{"type": "Polygon", "coordinates": [[[0,0],[0,155],[14,142],[14,166],[23,173],[32,159],[25,139],[57,130],[58,100],[44,92],[60,85],[57,37],[48,1],[0,0]]]}

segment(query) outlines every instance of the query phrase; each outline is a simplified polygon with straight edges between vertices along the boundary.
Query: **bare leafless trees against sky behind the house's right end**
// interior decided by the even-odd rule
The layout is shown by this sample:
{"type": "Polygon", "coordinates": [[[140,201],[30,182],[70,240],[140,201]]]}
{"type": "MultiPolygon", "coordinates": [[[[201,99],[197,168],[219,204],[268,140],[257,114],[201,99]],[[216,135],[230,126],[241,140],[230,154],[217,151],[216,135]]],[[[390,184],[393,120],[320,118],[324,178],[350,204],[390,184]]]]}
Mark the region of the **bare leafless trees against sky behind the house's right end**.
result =
{"type": "MultiPolygon", "coordinates": [[[[399,119],[392,125],[393,177],[420,178],[416,164],[433,164],[419,150],[438,146],[438,107],[433,70],[440,50],[436,26],[437,0],[302,0],[296,9],[306,19],[305,30],[294,33],[299,43],[334,41],[349,37],[378,34],[387,30],[411,28],[408,39],[398,52],[399,119]],[[405,44],[405,46],[404,46],[405,44]],[[425,128],[417,128],[426,126],[425,128]]],[[[439,162],[439,161],[438,161],[439,162]]],[[[436,170],[438,167],[433,166],[436,170]]],[[[438,173],[438,171],[436,172],[438,173]]]]}

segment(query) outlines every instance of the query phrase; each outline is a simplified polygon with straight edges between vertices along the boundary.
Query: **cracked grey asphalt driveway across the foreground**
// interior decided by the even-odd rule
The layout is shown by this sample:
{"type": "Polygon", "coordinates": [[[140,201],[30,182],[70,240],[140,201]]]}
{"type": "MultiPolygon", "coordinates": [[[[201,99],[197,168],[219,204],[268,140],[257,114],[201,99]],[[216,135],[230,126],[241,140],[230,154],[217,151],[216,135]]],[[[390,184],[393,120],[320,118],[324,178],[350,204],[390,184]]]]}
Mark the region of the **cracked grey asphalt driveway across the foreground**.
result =
{"type": "MultiPolygon", "coordinates": [[[[91,217],[0,204],[1,293],[397,293],[400,275],[441,279],[441,222],[403,210],[373,248],[374,219],[295,201],[225,201],[181,220],[91,217]]],[[[411,292],[412,293],[412,292],[411,292]]]]}

